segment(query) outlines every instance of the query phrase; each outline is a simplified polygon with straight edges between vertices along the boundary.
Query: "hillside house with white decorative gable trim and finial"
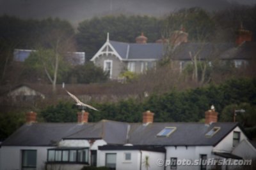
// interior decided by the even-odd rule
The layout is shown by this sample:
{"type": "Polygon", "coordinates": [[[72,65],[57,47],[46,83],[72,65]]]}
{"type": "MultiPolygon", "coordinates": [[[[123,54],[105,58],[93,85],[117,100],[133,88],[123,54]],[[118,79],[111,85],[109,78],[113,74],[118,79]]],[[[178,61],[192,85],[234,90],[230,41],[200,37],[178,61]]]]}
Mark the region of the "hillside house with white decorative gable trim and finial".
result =
{"type": "Polygon", "coordinates": [[[143,35],[136,38],[136,43],[110,41],[109,34],[106,43],[92,57],[91,61],[109,74],[109,78],[118,79],[120,73],[131,71],[143,73],[156,65],[163,57],[163,44],[147,43],[143,35]]]}

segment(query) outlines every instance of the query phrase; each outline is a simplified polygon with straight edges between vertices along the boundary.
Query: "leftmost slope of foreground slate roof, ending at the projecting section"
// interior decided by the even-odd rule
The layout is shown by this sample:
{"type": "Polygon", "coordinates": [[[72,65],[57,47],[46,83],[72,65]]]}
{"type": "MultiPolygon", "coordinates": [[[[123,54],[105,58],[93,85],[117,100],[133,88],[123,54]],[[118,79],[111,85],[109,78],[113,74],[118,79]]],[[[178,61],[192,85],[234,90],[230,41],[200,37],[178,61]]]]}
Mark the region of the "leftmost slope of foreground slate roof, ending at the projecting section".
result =
{"type": "Polygon", "coordinates": [[[63,136],[84,129],[88,125],[76,123],[24,124],[3,141],[2,146],[56,146],[63,136]]]}

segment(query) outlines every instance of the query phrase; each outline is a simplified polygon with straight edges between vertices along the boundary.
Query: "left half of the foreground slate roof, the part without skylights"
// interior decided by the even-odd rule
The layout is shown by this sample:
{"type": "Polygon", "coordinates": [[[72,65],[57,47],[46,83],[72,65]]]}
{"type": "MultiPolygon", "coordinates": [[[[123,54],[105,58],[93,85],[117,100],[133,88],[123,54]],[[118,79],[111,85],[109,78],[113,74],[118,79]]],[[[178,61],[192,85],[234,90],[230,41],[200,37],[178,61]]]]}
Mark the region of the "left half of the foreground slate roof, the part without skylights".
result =
{"type": "Polygon", "coordinates": [[[61,139],[104,139],[110,144],[123,144],[127,140],[127,129],[128,124],[111,120],[86,124],[25,124],[2,146],[56,146],[61,139]]]}

